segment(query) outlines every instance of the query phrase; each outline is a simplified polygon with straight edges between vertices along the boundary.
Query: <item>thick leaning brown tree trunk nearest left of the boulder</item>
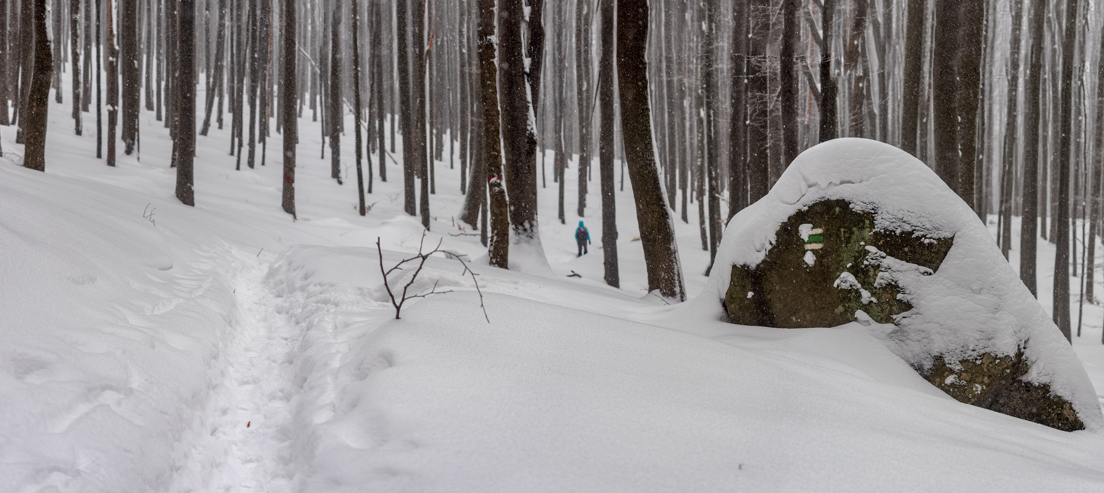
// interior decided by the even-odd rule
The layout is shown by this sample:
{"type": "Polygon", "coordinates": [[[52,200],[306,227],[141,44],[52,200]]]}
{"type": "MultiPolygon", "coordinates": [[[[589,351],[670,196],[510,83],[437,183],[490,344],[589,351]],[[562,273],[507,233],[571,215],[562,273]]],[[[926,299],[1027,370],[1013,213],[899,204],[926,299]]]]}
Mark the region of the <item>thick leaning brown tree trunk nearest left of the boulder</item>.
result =
{"type": "Polygon", "coordinates": [[[675,224],[659,183],[652,148],[648,64],[645,58],[647,40],[648,2],[617,0],[617,77],[620,79],[617,87],[620,93],[622,131],[648,269],[648,290],[658,289],[664,297],[684,301],[686,287],[675,224]]]}

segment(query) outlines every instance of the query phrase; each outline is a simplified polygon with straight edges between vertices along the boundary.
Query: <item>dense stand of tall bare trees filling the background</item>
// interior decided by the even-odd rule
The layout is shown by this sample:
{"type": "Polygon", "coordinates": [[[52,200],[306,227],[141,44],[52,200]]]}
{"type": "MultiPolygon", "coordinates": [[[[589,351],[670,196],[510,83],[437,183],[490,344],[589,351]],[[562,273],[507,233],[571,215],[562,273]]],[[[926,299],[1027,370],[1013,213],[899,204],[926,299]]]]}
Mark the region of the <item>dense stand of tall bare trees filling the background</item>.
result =
{"type": "Polygon", "coordinates": [[[297,152],[328,158],[335,186],[354,161],[361,215],[376,180],[402,180],[428,227],[437,187],[459,187],[459,217],[499,267],[524,251],[511,243],[539,247],[537,187],[558,186],[561,223],[602,208],[612,286],[627,175],[649,289],[678,300],[672,221],[697,222],[715,255],[728,219],[804,149],[877,139],[996,221],[1006,257],[1022,217],[1032,293],[1037,239],[1057,245],[1069,339],[1063,300],[1096,302],[1102,24],[1081,0],[0,0],[0,125],[44,170],[47,105],[71,105],[72,131],[95,132],[114,165],[140,154],[138,116],[153,112],[189,205],[212,131],[231,133],[237,169],[284,167],[293,216],[297,152]],[[321,121],[320,149],[296,146],[302,118],[321,121]],[[437,183],[445,165],[458,183],[437,183]]]}

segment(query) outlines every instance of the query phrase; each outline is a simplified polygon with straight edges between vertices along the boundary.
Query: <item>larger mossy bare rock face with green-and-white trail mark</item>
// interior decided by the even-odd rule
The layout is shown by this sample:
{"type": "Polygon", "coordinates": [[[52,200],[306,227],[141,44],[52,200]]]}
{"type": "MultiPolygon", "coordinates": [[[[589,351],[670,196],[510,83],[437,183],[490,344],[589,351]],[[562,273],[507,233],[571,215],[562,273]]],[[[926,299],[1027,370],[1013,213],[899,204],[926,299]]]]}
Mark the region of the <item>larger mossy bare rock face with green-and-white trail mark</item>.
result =
{"type": "Polygon", "coordinates": [[[847,201],[824,201],[778,227],[757,266],[732,266],[725,309],[732,323],[803,329],[836,326],[862,310],[880,323],[912,309],[883,265],[887,256],[940,268],[953,238],[874,231],[874,215],[847,201]]]}

